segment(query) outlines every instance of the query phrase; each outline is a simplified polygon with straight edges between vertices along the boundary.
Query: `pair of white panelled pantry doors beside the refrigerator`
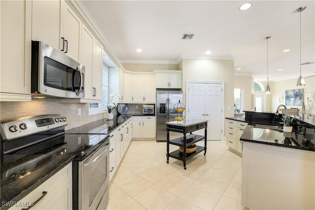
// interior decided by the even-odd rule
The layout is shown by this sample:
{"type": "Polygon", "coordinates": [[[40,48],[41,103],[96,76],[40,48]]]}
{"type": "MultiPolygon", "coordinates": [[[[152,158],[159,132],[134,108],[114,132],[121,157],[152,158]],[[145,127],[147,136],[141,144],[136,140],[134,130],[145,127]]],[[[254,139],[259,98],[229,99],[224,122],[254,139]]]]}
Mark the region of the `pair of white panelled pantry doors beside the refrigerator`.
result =
{"type": "MultiPolygon", "coordinates": [[[[208,120],[207,140],[222,137],[222,84],[189,83],[189,119],[208,120]]],[[[194,132],[204,135],[204,129],[194,132]]]]}

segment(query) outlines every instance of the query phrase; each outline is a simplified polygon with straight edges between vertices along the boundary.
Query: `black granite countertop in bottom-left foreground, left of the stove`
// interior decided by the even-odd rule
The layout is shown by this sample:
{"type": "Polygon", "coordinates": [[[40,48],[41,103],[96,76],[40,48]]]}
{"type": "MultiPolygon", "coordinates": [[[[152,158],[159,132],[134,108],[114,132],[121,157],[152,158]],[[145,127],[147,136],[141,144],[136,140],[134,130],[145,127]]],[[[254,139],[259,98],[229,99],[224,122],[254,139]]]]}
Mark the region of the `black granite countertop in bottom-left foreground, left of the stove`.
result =
{"type": "MultiPolygon", "coordinates": [[[[15,155],[16,157],[17,155],[15,155]]],[[[36,158],[42,155],[28,155],[22,156],[23,158],[36,158]]],[[[74,155],[47,155],[45,159],[49,159],[44,165],[40,166],[39,168],[32,170],[26,169],[31,171],[31,173],[27,173],[24,176],[20,176],[20,178],[12,180],[12,179],[3,179],[5,173],[10,168],[15,167],[15,161],[6,162],[5,159],[11,158],[10,155],[6,157],[1,157],[1,210],[9,209],[10,206],[5,206],[4,202],[18,202],[29,193],[31,193],[36,187],[42,184],[44,181],[49,179],[51,176],[55,175],[59,172],[63,167],[68,165],[74,159],[74,155]],[[3,202],[3,203],[2,203],[3,202]]],[[[17,159],[17,158],[15,158],[17,159]]],[[[19,160],[19,159],[17,159],[19,160]]],[[[16,163],[18,164],[18,163],[16,163]]],[[[30,166],[32,167],[32,166],[30,166]]]]}

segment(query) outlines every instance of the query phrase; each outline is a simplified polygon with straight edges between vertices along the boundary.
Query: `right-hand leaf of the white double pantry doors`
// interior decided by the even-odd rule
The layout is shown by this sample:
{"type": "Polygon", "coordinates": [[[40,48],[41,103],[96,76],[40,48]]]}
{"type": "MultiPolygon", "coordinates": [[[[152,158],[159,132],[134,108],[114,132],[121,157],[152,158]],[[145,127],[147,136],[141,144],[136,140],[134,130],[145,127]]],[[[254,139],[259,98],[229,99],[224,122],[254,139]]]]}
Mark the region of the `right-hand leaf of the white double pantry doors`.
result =
{"type": "Polygon", "coordinates": [[[207,139],[221,140],[222,84],[205,84],[205,113],[208,120],[207,139]]]}

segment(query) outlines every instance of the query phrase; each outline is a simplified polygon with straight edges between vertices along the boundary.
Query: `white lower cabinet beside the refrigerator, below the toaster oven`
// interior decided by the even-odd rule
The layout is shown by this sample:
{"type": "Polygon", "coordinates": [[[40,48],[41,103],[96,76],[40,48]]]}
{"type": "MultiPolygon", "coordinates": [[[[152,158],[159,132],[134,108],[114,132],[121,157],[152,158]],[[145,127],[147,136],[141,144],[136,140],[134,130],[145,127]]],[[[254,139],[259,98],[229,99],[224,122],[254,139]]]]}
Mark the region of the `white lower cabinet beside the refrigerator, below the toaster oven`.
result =
{"type": "Polygon", "coordinates": [[[152,140],[156,138],[155,116],[133,116],[132,139],[152,140]]]}

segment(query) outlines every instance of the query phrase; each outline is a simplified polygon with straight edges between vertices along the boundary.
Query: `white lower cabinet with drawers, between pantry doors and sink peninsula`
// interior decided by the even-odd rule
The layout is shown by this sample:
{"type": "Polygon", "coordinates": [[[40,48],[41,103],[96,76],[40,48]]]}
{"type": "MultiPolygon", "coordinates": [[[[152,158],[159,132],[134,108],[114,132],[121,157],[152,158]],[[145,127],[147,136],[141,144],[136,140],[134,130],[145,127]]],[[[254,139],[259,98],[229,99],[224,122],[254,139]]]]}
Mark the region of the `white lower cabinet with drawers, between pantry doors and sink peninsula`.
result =
{"type": "Polygon", "coordinates": [[[242,142],[240,138],[247,126],[247,122],[241,122],[237,120],[226,121],[226,144],[229,148],[236,150],[242,154],[242,142]]]}

